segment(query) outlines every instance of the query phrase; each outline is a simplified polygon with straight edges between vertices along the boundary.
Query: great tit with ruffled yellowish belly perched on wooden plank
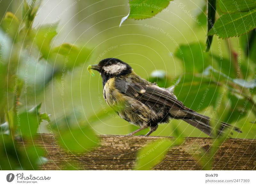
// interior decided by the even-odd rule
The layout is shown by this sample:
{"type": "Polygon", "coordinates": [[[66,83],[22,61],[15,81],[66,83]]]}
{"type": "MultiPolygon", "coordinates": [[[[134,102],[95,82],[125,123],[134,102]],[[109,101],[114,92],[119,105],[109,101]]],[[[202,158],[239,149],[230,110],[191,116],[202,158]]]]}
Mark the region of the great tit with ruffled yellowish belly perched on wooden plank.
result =
{"type": "MultiPolygon", "coordinates": [[[[172,87],[160,88],[156,83],[148,82],[135,74],[130,65],[116,58],[103,59],[91,68],[102,77],[103,97],[107,104],[121,118],[140,127],[128,135],[149,127],[148,136],[157,129],[159,123],[167,123],[172,118],[184,120],[209,136],[213,135],[210,118],[183,105],[173,94],[172,87]]],[[[224,128],[242,132],[239,128],[220,122],[218,134],[224,128]]]]}

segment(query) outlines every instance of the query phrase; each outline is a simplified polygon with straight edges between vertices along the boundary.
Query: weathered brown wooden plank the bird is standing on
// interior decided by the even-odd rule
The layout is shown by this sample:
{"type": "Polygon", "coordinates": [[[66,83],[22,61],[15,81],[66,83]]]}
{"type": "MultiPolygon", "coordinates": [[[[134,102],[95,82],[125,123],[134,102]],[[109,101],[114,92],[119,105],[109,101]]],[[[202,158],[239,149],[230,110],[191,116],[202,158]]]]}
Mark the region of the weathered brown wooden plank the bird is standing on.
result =
{"type": "MultiPolygon", "coordinates": [[[[101,145],[84,154],[75,155],[56,146],[51,134],[39,134],[36,143],[47,152],[50,160],[42,170],[131,170],[135,165],[138,150],[158,139],[173,137],[156,136],[99,136],[101,145]],[[76,167],[76,168],[75,168],[76,167]]],[[[211,138],[186,138],[184,143],[170,149],[165,159],[154,170],[201,170],[196,155],[200,147],[207,150],[211,138]]],[[[214,170],[255,170],[256,140],[228,139],[221,146],[213,161],[214,170]]]]}

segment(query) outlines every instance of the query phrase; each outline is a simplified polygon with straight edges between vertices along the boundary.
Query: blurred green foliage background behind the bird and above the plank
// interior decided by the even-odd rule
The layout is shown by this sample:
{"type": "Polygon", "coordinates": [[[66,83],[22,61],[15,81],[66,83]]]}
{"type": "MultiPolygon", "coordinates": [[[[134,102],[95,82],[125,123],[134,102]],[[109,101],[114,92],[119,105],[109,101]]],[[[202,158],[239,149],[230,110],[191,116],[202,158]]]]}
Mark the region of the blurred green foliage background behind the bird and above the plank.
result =
{"type": "MultiPolygon", "coordinates": [[[[127,19],[120,27],[129,12],[128,0],[34,0],[27,1],[27,7],[23,3],[0,2],[2,133],[15,136],[18,128],[27,138],[36,132],[60,134],[60,143],[71,151],[72,136],[87,134],[95,144],[74,149],[83,151],[99,143],[94,133],[134,131],[135,126],[106,105],[100,74],[91,77],[86,70],[101,59],[119,58],[160,87],[175,85],[175,94],[186,106],[241,128],[243,133],[233,137],[256,138],[255,30],[228,39],[213,36],[205,52],[204,0],[171,1],[155,17],[127,19]],[[21,122],[26,123],[21,126],[15,123],[17,103],[21,122]],[[28,131],[31,128],[34,132],[28,131]],[[75,128],[73,133],[70,128],[75,128]]],[[[222,14],[217,6],[216,17],[222,14]]],[[[160,125],[152,136],[175,136],[177,128],[180,136],[207,137],[178,120],[160,125]]],[[[83,143],[84,138],[74,141],[83,143]]]]}

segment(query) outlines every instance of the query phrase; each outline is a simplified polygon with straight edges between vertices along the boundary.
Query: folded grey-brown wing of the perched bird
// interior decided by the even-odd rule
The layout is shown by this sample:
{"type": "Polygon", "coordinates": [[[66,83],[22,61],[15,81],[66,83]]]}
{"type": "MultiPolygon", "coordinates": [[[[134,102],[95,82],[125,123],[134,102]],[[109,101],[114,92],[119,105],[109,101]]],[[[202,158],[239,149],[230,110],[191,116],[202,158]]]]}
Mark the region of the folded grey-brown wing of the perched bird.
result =
{"type": "Polygon", "coordinates": [[[148,85],[143,83],[126,82],[123,79],[116,79],[116,88],[129,97],[144,101],[157,103],[163,106],[175,107],[177,109],[186,108],[168,90],[159,88],[157,85],[148,85]]]}

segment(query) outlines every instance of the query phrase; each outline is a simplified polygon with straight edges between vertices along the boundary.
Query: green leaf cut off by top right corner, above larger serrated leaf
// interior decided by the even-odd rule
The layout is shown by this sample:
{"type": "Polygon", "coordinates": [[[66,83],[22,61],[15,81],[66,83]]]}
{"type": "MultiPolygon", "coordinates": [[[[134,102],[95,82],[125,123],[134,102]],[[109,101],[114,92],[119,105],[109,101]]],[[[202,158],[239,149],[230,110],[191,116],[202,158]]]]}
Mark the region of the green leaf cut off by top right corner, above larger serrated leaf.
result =
{"type": "Polygon", "coordinates": [[[248,12],[256,8],[256,0],[219,0],[218,5],[224,13],[248,12]]]}

